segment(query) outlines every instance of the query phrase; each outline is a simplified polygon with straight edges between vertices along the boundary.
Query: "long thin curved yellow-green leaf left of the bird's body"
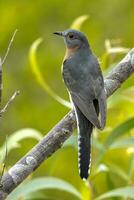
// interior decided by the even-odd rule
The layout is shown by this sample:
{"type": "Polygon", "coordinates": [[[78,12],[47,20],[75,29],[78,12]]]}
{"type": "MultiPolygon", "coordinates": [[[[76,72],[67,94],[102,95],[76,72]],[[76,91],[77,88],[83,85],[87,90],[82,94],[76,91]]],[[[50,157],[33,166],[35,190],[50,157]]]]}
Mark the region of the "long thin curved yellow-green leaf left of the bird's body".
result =
{"type": "Polygon", "coordinates": [[[37,40],[35,40],[35,42],[32,44],[30,51],[29,51],[29,60],[30,60],[30,64],[31,64],[31,69],[32,72],[37,80],[37,82],[39,83],[39,85],[45,90],[45,92],[47,92],[53,99],[55,99],[56,101],[58,101],[59,103],[61,103],[62,105],[68,107],[68,108],[72,108],[71,104],[62,99],[61,97],[59,97],[46,83],[44,77],[42,76],[39,66],[37,64],[37,59],[36,59],[36,53],[37,53],[37,48],[39,46],[39,44],[43,41],[42,38],[38,38],[37,40]]]}

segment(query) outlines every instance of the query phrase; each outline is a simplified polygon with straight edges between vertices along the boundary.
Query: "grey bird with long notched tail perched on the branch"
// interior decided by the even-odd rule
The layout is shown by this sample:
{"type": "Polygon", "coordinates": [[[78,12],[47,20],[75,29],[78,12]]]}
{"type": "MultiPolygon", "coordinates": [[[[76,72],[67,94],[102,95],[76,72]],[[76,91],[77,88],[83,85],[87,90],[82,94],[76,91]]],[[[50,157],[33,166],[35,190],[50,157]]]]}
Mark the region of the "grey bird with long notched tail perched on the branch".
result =
{"type": "Polygon", "coordinates": [[[79,175],[86,180],[90,173],[93,129],[102,130],[106,124],[104,78],[83,32],[67,29],[54,34],[63,37],[66,45],[62,76],[76,115],[79,175]]]}

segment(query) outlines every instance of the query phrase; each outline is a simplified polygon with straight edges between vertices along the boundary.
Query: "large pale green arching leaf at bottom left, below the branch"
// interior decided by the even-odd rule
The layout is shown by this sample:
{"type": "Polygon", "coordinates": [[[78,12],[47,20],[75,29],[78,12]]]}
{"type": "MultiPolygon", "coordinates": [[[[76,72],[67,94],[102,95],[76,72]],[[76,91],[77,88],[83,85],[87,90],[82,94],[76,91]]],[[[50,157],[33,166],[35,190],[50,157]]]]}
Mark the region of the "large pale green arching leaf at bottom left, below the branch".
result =
{"type": "Polygon", "coordinates": [[[7,200],[17,200],[19,198],[26,198],[28,194],[38,190],[59,190],[70,193],[77,199],[82,199],[81,194],[73,185],[58,178],[36,178],[21,184],[17,187],[7,198],[7,200]]]}

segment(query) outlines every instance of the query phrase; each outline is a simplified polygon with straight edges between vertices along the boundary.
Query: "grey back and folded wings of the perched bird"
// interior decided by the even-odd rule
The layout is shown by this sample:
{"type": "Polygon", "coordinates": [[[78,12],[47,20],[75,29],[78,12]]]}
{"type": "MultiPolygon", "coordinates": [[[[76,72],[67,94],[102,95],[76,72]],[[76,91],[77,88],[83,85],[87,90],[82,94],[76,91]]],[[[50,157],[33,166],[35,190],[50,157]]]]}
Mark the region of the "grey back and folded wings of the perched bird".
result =
{"type": "Polygon", "coordinates": [[[98,61],[92,57],[89,62],[84,62],[81,65],[75,66],[73,64],[73,68],[70,68],[68,63],[65,64],[63,77],[72,101],[94,126],[101,129],[104,127],[106,119],[106,97],[98,61]],[[94,99],[98,100],[100,121],[93,102],[94,99]]]}

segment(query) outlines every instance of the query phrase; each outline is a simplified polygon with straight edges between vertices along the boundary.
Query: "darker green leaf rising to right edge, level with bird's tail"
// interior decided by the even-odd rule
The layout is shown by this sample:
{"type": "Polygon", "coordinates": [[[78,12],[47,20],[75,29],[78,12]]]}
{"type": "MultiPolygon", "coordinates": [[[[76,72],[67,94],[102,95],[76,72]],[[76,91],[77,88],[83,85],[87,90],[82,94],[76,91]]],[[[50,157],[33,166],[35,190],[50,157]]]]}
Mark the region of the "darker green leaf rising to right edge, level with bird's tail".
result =
{"type": "Polygon", "coordinates": [[[105,144],[106,146],[110,146],[118,137],[124,135],[126,132],[130,131],[134,128],[134,117],[128,119],[121,125],[117,126],[111,134],[107,137],[105,144]]]}

